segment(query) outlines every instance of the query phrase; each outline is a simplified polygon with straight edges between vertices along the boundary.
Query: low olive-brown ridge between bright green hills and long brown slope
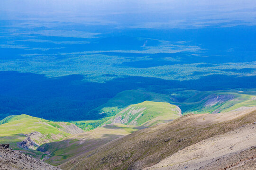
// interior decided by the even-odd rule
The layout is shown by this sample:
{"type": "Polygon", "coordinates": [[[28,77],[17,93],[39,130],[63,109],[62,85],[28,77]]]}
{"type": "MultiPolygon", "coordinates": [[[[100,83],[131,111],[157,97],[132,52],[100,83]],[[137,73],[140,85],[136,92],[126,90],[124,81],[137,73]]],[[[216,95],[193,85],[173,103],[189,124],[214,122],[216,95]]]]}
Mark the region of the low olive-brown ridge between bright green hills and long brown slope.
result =
{"type": "Polygon", "coordinates": [[[37,150],[50,153],[50,158],[46,162],[52,165],[59,165],[142,128],[122,124],[106,125],[89,132],[65,137],[58,142],[43,144],[37,150]]]}

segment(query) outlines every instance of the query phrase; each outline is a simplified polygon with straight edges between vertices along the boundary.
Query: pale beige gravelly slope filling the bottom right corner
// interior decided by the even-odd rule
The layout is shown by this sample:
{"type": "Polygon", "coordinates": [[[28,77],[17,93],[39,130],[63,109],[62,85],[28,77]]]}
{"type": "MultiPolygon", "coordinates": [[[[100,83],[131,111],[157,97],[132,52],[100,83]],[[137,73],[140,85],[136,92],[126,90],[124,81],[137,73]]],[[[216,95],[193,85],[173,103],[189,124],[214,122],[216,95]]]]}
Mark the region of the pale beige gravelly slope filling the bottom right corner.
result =
{"type": "MultiPolygon", "coordinates": [[[[235,157],[238,157],[242,152],[247,150],[251,151],[243,155],[243,157],[240,155],[238,159],[246,159],[255,156],[256,149],[250,149],[254,146],[256,146],[256,123],[192,144],[145,170],[225,169],[226,167],[236,164],[239,160],[236,160],[235,157]],[[229,157],[229,159],[225,160],[227,157],[229,157]],[[219,160],[222,160],[222,163],[215,164],[215,161],[219,160]]],[[[254,158],[251,159],[251,161],[255,160],[254,158]]],[[[244,163],[249,163],[249,161],[244,163]]],[[[242,163],[240,163],[239,166],[230,167],[229,169],[235,170],[235,168],[241,166],[242,163]]]]}

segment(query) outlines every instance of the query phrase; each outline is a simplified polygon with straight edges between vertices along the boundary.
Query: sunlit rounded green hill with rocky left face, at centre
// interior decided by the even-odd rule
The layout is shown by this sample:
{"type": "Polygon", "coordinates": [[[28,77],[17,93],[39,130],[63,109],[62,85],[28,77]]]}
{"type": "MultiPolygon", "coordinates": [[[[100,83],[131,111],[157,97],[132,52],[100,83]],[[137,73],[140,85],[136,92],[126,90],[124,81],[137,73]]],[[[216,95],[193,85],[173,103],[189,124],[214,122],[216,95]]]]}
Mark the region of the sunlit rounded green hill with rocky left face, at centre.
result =
{"type": "Polygon", "coordinates": [[[121,123],[125,125],[152,126],[181,116],[181,110],[167,102],[145,101],[128,106],[105,124],[121,123]]]}

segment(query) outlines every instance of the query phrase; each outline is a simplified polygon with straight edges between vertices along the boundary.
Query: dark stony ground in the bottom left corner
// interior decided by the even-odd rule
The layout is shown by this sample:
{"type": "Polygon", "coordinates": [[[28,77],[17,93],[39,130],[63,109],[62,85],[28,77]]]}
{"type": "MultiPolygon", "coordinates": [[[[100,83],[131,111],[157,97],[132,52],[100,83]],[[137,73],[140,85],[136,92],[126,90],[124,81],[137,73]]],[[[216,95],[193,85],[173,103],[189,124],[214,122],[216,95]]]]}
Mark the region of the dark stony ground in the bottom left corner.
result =
{"type": "Polygon", "coordinates": [[[0,170],[61,170],[30,155],[0,146],[0,170]]]}

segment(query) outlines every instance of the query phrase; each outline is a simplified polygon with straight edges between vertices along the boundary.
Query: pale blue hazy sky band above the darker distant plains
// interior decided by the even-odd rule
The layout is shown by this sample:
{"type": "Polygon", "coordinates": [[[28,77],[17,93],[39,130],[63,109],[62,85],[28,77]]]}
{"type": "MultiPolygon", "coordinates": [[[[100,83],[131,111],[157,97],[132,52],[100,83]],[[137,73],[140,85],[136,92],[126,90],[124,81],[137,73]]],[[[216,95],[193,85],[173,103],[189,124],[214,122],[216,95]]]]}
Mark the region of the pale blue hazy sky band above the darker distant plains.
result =
{"type": "Polygon", "coordinates": [[[0,0],[0,19],[128,28],[256,24],[256,0],[0,0]]]}

